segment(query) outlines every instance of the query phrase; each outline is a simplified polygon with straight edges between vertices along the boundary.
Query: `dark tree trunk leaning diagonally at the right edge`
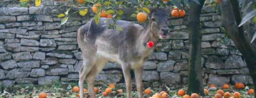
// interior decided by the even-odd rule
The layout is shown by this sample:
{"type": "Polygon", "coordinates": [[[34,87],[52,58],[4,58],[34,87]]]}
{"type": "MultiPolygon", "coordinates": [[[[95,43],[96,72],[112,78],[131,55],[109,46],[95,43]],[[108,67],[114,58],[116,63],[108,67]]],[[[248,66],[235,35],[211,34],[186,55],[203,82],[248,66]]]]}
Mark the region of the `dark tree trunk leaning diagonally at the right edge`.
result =
{"type": "MultiPolygon", "coordinates": [[[[241,14],[237,0],[221,0],[222,23],[237,49],[243,54],[250,76],[256,88],[256,46],[250,43],[249,37],[244,33],[243,29],[237,25],[241,22],[241,14]],[[233,9],[233,11],[232,11],[233,9]]],[[[256,96],[254,96],[256,98],[256,96]]]]}

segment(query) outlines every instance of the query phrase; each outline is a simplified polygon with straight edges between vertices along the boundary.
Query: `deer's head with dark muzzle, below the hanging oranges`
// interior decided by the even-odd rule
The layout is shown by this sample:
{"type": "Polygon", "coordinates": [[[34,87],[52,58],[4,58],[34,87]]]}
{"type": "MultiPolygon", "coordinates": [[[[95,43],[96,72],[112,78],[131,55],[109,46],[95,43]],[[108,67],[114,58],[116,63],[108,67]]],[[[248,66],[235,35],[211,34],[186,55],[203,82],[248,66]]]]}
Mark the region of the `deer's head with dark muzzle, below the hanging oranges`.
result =
{"type": "Polygon", "coordinates": [[[151,9],[151,13],[148,14],[150,29],[160,39],[167,38],[167,33],[169,33],[168,18],[170,12],[171,7],[167,7],[165,9],[151,9]]]}

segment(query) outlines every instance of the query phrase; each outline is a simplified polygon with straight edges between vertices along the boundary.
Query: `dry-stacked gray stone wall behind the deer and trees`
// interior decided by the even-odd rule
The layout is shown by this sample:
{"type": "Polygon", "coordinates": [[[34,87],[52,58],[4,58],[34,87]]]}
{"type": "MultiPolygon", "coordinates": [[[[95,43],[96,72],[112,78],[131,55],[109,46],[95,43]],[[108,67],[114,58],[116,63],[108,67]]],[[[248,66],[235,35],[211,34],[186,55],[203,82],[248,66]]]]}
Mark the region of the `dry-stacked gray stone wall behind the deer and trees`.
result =
{"type": "MultiPolygon", "coordinates": [[[[60,25],[58,14],[64,6],[0,8],[0,84],[4,86],[52,81],[76,81],[82,67],[82,53],[76,41],[76,30],[94,15],[72,15],[60,25]]],[[[79,7],[73,7],[79,9],[79,7]]],[[[72,12],[72,11],[71,11],[72,12]]],[[[138,23],[125,9],[124,20],[138,23]]],[[[188,16],[170,16],[170,33],[160,40],[145,63],[143,81],[186,84],[188,76],[188,16]]],[[[249,70],[232,41],[224,38],[221,16],[204,7],[200,16],[202,32],[202,67],[204,85],[213,83],[252,84],[249,70]],[[217,39],[224,39],[223,42],[217,39]]],[[[147,26],[147,22],[142,25],[147,26]]],[[[99,61],[100,62],[100,61],[99,61]]],[[[134,78],[134,77],[133,77],[134,78]]],[[[96,76],[99,84],[124,82],[121,65],[109,62],[96,76]]]]}

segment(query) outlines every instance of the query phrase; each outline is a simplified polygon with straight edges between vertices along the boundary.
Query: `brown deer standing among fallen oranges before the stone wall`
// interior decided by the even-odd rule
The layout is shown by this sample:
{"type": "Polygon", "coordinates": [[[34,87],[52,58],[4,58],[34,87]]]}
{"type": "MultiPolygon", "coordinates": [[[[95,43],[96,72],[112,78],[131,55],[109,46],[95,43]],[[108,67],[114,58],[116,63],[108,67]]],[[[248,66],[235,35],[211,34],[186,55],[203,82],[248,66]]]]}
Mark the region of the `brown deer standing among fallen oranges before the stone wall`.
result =
{"type": "Polygon", "coordinates": [[[147,47],[147,42],[152,41],[156,44],[158,39],[167,38],[170,12],[171,7],[152,9],[148,14],[149,24],[146,29],[139,24],[123,20],[116,22],[123,31],[108,29],[103,26],[113,23],[105,22],[108,18],[100,18],[98,25],[94,20],[90,20],[80,27],[77,31],[77,41],[83,56],[83,66],[79,71],[80,98],[83,98],[85,79],[91,98],[96,98],[95,77],[109,61],[122,65],[127,98],[130,98],[132,89],[130,69],[134,69],[138,96],[142,98],[143,65],[153,50],[147,47]]]}

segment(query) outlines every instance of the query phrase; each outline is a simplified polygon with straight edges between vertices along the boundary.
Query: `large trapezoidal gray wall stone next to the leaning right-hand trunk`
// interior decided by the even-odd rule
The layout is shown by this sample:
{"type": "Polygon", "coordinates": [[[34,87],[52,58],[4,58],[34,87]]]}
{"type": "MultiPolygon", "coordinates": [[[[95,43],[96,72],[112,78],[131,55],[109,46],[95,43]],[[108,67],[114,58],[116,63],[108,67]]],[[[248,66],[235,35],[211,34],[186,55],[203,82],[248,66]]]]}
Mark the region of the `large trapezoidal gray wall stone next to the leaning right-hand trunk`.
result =
{"type": "Polygon", "coordinates": [[[241,56],[230,55],[224,63],[225,69],[235,69],[246,67],[241,56]]]}

